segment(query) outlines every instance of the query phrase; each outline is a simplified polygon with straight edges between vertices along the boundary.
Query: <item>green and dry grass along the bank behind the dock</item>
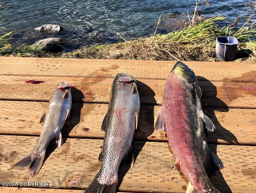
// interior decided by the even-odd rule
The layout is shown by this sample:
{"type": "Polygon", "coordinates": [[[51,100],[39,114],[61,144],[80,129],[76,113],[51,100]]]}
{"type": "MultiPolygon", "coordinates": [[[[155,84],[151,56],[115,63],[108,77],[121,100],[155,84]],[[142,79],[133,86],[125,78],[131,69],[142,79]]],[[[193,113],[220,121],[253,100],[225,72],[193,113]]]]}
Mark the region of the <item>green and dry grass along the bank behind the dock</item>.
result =
{"type": "MultiPolygon", "coordinates": [[[[182,30],[174,30],[168,34],[156,34],[151,37],[133,38],[115,44],[94,45],[81,48],[73,52],[50,53],[35,45],[21,45],[12,47],[8,44],[9,32],[0,35],[0,56],[16,57],[59,57],[59,58],[86,58],[86,59],[135,59],[135,60],[182,60],[182,61],[222,61],[216,58],[215,45],[217,36],[231,36],[239,41],[235,62],[256,62],[256,20],[251,20],[256,12],[256,3],[246,3],[239,17],[228,26],[219,27],[218,22],[225,21],[224,16],[215,16],[204,19],[199,14],[208,1],[196,0],[195,11],[189,17],[189,25],[182,30]],[[241,18],[245,23],[237,29],[241,18]]],[[[1,5],[0,5],[1,8],[1,5]]],[[[0,29],[1,30],[1,29],[0,29]]],[[[61,42],[61,41],[60,41],[61,42]]],[[[65,40],[64,40],[65,43],[65,40]]]]}

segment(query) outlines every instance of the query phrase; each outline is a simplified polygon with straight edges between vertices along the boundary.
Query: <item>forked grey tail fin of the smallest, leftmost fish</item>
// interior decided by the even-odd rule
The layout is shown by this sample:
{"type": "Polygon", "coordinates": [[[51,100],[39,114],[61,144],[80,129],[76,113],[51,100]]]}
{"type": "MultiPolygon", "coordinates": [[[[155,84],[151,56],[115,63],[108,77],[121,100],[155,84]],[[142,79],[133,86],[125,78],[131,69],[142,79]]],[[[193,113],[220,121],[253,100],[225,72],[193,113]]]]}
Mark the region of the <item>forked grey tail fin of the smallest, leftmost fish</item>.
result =
{"type": "Polygon", "coordinates": [[[11,169],[23,169],[28,168],[28,171],[32,177],[35,177],[39,172],[45,158],[45,151],[41,155],[32,155],[31,153],[25,158],[20,159],[14,164],[11,169]]]}

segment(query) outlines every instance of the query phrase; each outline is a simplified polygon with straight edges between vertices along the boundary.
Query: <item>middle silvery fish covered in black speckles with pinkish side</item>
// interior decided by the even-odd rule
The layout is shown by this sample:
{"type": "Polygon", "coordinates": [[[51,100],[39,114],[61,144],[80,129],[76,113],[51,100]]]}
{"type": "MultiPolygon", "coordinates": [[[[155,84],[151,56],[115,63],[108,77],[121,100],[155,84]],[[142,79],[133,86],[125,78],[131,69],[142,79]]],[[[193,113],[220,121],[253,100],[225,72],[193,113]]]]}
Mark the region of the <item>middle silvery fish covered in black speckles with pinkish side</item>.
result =
{"type": "Polygon", "coordinates": [[[103,149],[99,155],[101,169],[86,193],[116,192],[121,161],[133,166],[131,144],[138,126],[139,110],[136,80],[130,74],[117,74],[112,84],[108,112],[101,125],[101,130],[105,131],[103,149]]]}

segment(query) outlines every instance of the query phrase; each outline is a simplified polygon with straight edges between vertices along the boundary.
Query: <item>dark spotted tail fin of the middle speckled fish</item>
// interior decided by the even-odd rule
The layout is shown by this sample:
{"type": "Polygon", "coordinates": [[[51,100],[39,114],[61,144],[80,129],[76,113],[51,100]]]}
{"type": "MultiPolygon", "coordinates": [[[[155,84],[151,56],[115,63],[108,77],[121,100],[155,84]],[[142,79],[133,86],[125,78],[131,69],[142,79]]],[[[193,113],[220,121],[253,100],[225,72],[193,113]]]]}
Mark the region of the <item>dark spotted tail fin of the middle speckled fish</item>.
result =
{"type": "Polygon", "coordinates": [[[111,185],[105,184],[104,180],[102,180],[102,183],[101,183],[100,175],[101,175],[101,170],[92,180],[92,183],[88,186],[88,188],[86,188],[84,193],[116,193],[117,192],[118,174],[114,176],[114,180],[112,180],[111,185]]]}

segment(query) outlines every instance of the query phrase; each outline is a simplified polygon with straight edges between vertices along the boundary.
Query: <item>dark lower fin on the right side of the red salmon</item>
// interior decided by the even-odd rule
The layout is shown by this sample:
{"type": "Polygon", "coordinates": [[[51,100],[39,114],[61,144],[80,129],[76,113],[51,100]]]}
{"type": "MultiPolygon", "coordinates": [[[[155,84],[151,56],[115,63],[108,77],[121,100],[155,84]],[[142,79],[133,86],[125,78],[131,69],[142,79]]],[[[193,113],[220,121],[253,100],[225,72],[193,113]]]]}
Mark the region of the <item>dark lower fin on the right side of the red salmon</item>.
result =
{"type": "Polygon", "coordinates": [[[223,169],[223,163],[220,158],[209,149],[208,161],[205,162],[204,168],[207,174],[212,174],[217,170],[223,169]]]}

